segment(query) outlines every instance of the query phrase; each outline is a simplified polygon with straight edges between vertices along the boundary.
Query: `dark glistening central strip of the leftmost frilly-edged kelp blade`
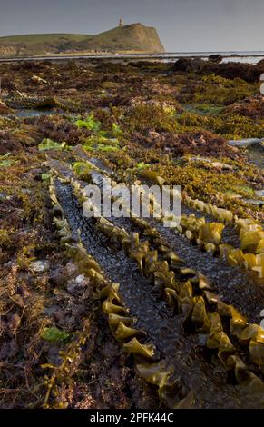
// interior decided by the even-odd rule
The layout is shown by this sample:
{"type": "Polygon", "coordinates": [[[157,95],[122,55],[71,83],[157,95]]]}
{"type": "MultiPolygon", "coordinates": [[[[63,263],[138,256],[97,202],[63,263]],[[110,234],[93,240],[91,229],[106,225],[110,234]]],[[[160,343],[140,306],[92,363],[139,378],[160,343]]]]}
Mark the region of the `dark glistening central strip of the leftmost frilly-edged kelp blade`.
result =
{"type": "Polygon", "coordinates": [[[157,356],[173,366],[174,379],[179,383],[179,399],[192,391],[198,408],[261,407],[261,402],[250,401],[246,387],[228,382],[220,362],[210,360],[204,353],[200,335],[186,333],[182,316],[174,314],[152,292],[151,284],[135,263],[122,251],[109,246],[94,227],[93,219],[83,217],[71,186],[56,180],[56,192],[72,232],[80,230],[88,253],[112,282],[120,283],[123,302],[137,318],[136,326],[155,344],[157,356]]]}

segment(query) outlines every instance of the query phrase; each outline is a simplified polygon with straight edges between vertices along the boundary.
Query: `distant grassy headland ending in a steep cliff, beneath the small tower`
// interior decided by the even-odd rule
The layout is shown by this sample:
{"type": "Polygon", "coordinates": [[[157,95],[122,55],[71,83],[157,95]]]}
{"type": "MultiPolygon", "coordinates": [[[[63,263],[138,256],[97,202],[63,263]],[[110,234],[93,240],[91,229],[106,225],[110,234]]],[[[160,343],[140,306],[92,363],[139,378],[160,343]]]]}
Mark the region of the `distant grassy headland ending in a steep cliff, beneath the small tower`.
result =
{"type": "Polygon", "coordinates": [[[0,56],[56,55],[89,52],[161,53],[164,47],[155,28],[123,25],[99,35],[11,35],[0,37],[0,56]]]}

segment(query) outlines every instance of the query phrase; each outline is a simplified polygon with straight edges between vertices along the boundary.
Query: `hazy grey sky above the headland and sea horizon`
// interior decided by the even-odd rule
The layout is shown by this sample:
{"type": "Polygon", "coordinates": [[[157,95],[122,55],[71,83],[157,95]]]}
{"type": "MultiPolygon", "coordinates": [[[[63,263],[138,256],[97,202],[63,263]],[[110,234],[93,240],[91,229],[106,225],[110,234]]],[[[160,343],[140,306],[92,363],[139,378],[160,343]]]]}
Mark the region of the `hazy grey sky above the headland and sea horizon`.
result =
{"type": "Polygon", "coordinates": [[[141,22],[170,51],[264,50],[264,0],[0,0],[0,35],[96,34],[141,22]]]}

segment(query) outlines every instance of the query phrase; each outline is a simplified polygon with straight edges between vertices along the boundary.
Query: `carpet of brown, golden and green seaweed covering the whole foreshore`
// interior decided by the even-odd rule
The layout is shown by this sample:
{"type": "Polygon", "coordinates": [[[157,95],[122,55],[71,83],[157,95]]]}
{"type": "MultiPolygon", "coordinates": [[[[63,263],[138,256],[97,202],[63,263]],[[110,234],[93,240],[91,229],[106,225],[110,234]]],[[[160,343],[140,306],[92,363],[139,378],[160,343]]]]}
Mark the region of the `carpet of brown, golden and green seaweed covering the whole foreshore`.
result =
{"type": "Polygon", "coordinates": [[[192,65],[1,64],[2,407],[206,406],[184,383],[192,358],[192,385],[217,366],[220,396],[234,386],[253,396],[249,406],[263,406],[263,334],[239,310],[258,323],[261,289],[249,283],[264,277],[262,146],[228,141],[263,136],[262,65],[192,65]],[[94,174],[130,188],[180,184],[180,225],[162,211],[155,221],[87,222],[83,186],[94,174]],[[74,233],[58,183],[73,194],[74,233]],[[131,266],[118,275],[125,286],[110,283],[104,256],[112,271],[119,258],[131,266]],[[209,280],[213,268],[225,278],[220,286],[209,280]],[[247,286],[236,274],[250,278],[247,286]],[[130,303],[142,285],[139,320],[137,303],[128,308],[122,296],[130,303]],[[145,322],[152,313],[175,321],[172,335],[153,331],[161,323],[145,322]]]}

